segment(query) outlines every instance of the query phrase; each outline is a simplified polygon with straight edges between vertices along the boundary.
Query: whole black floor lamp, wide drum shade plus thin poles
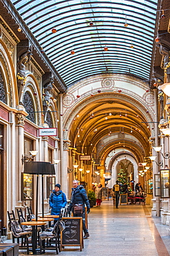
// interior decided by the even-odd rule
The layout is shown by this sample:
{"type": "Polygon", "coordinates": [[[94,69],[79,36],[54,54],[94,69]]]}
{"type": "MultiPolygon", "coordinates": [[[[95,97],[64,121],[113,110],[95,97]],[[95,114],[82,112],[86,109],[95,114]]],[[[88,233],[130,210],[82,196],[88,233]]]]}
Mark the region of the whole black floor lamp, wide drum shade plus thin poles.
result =
{"type": "Polygon", "coordinates": [[[39,174],[42,175],[42,215],[44,217],[44,203],[43,203],[43,176],[55,174],[54,165],[50,162],[25,162],[25,174],[36,174],[36,221],[38,219],[38,205],[39,205],[39,174]]]}

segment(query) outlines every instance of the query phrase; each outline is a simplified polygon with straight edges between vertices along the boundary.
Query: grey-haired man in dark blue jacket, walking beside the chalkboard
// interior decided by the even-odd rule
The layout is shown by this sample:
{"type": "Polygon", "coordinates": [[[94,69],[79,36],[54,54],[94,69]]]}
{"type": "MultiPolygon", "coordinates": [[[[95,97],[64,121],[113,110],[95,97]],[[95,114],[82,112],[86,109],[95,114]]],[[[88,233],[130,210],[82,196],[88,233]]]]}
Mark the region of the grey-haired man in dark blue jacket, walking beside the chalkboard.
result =
{"type": "Polygon", "coordinates": [[[89,237],[89,232],[85,226],[85,205],[87,206],[87,213],[89,213],[90,206],[89,206],[89,199],[87,197],[87,193],[82,185],[78,185],[78,181],[73,181],[69,212],[72,211],[74,217],[83,217],[83,231],[85,233],[83,238],[86,239],[89,237]],[[83,214],[74,213],[74,205],[78,203],[83,205],[83,214]]]}

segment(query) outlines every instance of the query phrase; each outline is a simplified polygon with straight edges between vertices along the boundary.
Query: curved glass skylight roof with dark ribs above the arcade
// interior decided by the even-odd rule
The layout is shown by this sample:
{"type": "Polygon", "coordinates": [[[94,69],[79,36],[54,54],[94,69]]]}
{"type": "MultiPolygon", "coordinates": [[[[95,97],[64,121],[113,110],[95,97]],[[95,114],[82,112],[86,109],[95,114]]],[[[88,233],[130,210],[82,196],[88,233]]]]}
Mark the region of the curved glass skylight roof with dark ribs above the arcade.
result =
{"type": "Polygon", "coordinates": [[[100,73],[149,79],[157,0],[11,1],[67,86],[100,73]]]}

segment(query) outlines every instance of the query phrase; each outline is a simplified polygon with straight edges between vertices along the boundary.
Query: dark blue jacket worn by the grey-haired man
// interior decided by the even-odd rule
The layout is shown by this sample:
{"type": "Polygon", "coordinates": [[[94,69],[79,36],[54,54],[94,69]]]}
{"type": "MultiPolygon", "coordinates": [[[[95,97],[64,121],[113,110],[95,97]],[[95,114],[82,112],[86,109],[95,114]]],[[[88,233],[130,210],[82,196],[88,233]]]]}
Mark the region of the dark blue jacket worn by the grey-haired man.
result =
{"type": "Polygon", "coordinates": [[[73,210],[74,204],[81,203],[83,204],[83,212],[85,211],[85,204],[87,206],[87,209],[90,208],[89,206],[89,199],[87,197],[87,192],[83,188],[83,185],[78,185],[76,189],[72,188],[72,196],[71,196],[71,202],[70,202],[70,208],[69,210],[73,210]]]}

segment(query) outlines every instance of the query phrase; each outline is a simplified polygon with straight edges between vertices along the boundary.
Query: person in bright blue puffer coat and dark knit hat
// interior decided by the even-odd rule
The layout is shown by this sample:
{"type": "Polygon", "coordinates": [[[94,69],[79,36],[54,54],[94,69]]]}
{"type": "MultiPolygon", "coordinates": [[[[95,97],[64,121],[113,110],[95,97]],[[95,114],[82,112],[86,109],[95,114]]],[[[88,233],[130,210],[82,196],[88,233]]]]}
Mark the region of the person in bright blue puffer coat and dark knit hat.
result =
{"type": "MultiPolygon", "coordinates": [[[[61,208],[65,208],[67,204],[67,198],[65,193],[61,190],[61,185],[56,184],[55,189],[52,190],[52,194],[50,194],[49,199],[50,207],[52,208],[51,214],[52,215],[59,215],[61,212],[61,208]]],[[[54,224],[56,223],[57,218],[54,219],[54,224]]]]}

